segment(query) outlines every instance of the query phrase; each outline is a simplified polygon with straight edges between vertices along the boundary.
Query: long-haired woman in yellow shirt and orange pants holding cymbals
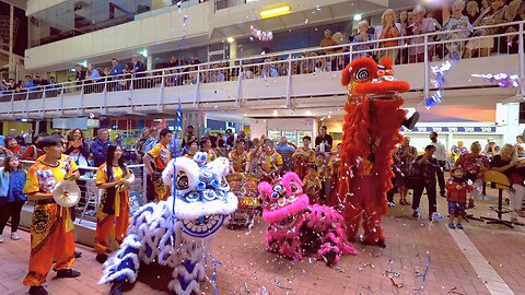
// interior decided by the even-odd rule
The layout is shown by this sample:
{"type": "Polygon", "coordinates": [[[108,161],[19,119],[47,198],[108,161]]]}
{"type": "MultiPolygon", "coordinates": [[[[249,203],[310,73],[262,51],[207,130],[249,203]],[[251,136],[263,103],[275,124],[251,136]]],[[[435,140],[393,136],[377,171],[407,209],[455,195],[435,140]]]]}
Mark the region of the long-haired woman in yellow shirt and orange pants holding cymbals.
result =
{"type": "Polygon", "coordinates": [[[122,157],[122,148],[109,145],[106,163],[96,172],[96,187],[103,189],[101,203],[96,212],[95,251],[96,261],[107,260],[109,233],[115,232],[115,240],[122,243],[129,225],[129,187],[122,186],[126,176],[130,175],[122,157]],[[112,167],[108,169],[107,167],[112,167]]]}

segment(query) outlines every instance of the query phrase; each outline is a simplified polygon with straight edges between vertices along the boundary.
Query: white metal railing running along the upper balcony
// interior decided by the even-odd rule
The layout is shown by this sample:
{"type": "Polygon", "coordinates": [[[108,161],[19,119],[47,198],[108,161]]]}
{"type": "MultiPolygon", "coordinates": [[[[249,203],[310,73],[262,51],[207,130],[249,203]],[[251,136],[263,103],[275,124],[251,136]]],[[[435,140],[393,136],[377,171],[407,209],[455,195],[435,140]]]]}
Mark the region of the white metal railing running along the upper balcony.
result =
{"type": "MultiPolygon", "coordinates": [[[[365,43],[352,43],[332,47],[316,47],[301,50],[292,50],[277,54],[269,54],[249,58],[225,60],[219,62],[208,62],[200,64],[188,64],[145,71],[138,74],[122,74],[115,76],[104,76],[96,80],[84,80],[78,82],[66,82],[55,85],[39,86],[23,92],[4,92],[1,102],[11,102],[13,106],[16,101],[42,99],[49,97],[60,97],[63,102],[65,96],[80,95],[83,102],[84,95],[100,93],[104,95],[103,105],[106,107],[107,95],[112,92],[137,92],[145,88],[156,88],[160,93],[159,104],[163,103],[162,93],[172,87],[182,87],[185,85],[196,85],[195,94],[191,98],[198,103],[198,85],[206,83],[236,82],[236,101],[242,99],[241,84],[246,80],[268,81],[270,78],[287,78],[285,93],[287,105],[290,102],[290,82],[292,76],[315,74],[322,72],[338,72],[352,59],[359,56],[382,56],[387,51],[397,50],[398,59],[396,64],[423,63],[424,81],[422,84],[423,95],[428,96],[432,88],[431,67],[432,61],[450,59],[453,52],[458,54],[464,59],[475,57],[492,57],[518,55],[517,73],[525,76],[524,69],[524,23],[514,22],[491,26],[480,26],[474,28],[472,37],[459,38],[459,33],[465,31],[441,31],[431,34],[405,36],[392,39],[371,40],[365,43]],[[510,28],[513,30],[510,30],[510,28]],[[504,32],[493,35],[480,35],[476,32],[495,28],[504,32]],[[418,39],[418,43],[415,43],[418,39]],[[381,45],[386,40],[397,40],[398,46],[383,48],[381,45]],[[481,52],[482,40],[491,40],[493,51],[487,56],[465,56],[466,48],[471,51],[481,52]],[[413,50],[422,54],[422,60],[417,60],[416,56],[410,55],[413,50]]],[[[472,34],[471,34],[472,35],[472,34]]],[[[460,35],[459,35],[460,36],[460,35]]],[[[480,71],[490,72],[490,69],[480,69],[480,71]]],[[[261,82],[265,83],[265,82],[261,82]]],[[[521,92],[523,93],[523,91],[521,92]]],[[[261,95],[264,96],[264,95],[261,95]]],[[[185,97],[187,102],[188,97],[185,97]]],[[[79,108],[83,107],[83,103],[79,108]]],[[[13,114],[5,108],[1,108],[3,114],[13,114]]],[[[12,109],[11,109],[12,110],[12,109]]]]}

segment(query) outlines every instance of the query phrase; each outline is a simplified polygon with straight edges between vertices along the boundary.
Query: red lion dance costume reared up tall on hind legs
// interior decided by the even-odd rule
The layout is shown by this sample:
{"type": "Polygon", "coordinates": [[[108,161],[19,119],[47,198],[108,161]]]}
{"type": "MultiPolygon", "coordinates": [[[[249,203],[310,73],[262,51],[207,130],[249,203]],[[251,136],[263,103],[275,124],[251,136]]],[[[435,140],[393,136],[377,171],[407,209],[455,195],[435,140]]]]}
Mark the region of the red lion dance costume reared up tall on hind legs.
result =
{"type": "Polygon", "coordinates": [[[407,125],[406,111],[399,108],[404,102],[397,94],[407,92],[410,85],[394,79],[390,59],[377,64],[370,57],[348,64],[341,83],[348,88],[348,101],[338,192],[348,239],[355,240],[363,217],[363,241],[386,247],[381,219],[386,213],[386,192],[394,176],[392,151],[402,139],[400,126],[407,125]]]}

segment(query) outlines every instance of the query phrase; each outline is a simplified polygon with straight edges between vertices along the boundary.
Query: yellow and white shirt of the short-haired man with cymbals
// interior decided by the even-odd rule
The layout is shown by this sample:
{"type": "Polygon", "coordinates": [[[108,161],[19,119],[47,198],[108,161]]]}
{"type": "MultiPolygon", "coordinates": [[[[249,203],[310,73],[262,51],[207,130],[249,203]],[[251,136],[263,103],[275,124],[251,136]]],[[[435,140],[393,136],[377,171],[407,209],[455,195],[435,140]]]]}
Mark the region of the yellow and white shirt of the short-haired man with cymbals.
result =
{"type": "Polygon", "coordinates": [[[58,161],[58,166],[44,164],[42,162],[43,157],[39,157],[38,160],[39,161],[31,166],[27,172],[24,193],[52,192],[58,182],[62,181],[66,176],[70,176],[79,169],[77,164],[74,164],[74,161],[69,158],[68,155],[62,155],[58,161]]]}

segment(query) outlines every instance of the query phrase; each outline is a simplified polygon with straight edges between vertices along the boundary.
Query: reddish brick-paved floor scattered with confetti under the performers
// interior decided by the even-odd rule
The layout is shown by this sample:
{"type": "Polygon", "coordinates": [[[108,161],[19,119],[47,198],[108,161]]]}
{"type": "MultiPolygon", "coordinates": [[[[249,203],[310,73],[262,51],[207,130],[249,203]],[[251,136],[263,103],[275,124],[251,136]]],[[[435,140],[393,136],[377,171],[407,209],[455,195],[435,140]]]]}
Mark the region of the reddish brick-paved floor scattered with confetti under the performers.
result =
{"type": "MultiPolygon", "coordinates": [[[[495,196],[495,192],[490,191],[489,194],[495,196]]],[[[494,199],[478,201],[474,213],[494,215],[487,209],[494,202],[494,199]]],[[[427,202],[422,202],[422,208],[425,216],[427,202]]],[[[446,217],[446,202],[440,197],[439,211],[446,217]]],[[[293,262],[266,252],[266,224],[259,217],[250,232],[223,228],[211,249],[222,262],[218,269],[218,294],[266,294],[266,290],[267,294],[472,295],[502,294],[498,291],[504,290],[505,284],[514,294],[525,294],[525,228],[509,229],[477,221],[467,223],[465,235],[456,234],[463,240],[470,240],[479,250],[480,255],[477,255],[469,248],[459,248],[451,235],[452,229],[446,227],[446,220],[413,220],[409,217],[410,213],[409,206],[397,205],[384,219],[387,248],[366,247],[358,243],[355,247],[360,253],[345,257],[334,268],[313,258],[293,262]],[[464,251],[470,255],[472,263],[486,263],[483,261],[487,260],[504,282],[495,279],[494,282],[483,282],[485,276],[478,276],[464,251]],[[490,286],[490,293],[486,284],[490,286]]],[[[0,244],[0,294],[26,293],[27,288],[21,281],[27,268],[28,243],[30,235],[22,233],[21,240],[0,244]]],[[[54,280],[50,273],[46,283],[48,290],[51,294],[107,294],[109,287],[96,283],[102,269],[95,262],[92,249],[78,248],[83,257],[77,260],[75,268],[82,276],[54,280]]],[[[212,269],[208,273],[211,276],[212,269]]],[[[160,274],[143,271],[135,287],[125,294],[167,294],[168,276],[167,271],[160,274]]],[[[213,294],[210,283],[202,284],[201,291],[213,294]]]]}

